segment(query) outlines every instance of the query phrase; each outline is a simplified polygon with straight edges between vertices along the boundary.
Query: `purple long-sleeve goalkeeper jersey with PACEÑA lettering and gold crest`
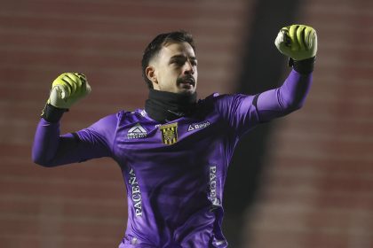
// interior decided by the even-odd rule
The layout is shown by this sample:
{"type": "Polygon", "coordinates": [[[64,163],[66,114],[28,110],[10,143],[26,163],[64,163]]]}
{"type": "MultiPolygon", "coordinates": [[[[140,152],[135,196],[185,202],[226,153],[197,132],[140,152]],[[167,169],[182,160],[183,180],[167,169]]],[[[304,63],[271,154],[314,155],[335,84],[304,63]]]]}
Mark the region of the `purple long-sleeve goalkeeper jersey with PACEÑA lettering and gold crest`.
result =
{"type": "Polygon", "coordinates": [[[193,115],[166,124],[147,112],[117,112],[60,136],[40,120],[33,159],[52,167],[111,157],[127,188],[128,224],[119,247],[226,247],[223,188],[234,147],[258,123],[303,105],[312,74],[291,71],[282,87],[257,96],[213,94],[193,115]]]}

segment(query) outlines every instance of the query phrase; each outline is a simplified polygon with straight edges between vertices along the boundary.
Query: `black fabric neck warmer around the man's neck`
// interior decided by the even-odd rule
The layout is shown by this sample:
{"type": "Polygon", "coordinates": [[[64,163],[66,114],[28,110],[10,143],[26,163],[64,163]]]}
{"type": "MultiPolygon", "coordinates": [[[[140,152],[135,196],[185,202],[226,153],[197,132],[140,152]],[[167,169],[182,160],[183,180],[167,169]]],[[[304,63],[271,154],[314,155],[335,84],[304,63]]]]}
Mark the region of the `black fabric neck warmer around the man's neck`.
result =
{"type": "Polygon", "coordinates": [[[182,95],[150,89],[145,110],[150,118],[161,123],[179,119],[194,112],[197,94],[182,95]]]}

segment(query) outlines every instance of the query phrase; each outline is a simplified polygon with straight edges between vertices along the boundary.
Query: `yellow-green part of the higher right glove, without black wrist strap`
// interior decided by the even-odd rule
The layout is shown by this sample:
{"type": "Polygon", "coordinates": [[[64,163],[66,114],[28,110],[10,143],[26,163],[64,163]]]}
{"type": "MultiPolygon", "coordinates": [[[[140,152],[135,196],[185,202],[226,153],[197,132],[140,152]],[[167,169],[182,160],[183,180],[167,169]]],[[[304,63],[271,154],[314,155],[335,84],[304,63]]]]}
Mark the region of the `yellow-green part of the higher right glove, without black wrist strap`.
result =
{"type": "Polygon", "coordinates": [[[317,52],[316,31],[306,25],[282,27],[274,44],[282,54],[296,61],[313,58],[317,52]]]}

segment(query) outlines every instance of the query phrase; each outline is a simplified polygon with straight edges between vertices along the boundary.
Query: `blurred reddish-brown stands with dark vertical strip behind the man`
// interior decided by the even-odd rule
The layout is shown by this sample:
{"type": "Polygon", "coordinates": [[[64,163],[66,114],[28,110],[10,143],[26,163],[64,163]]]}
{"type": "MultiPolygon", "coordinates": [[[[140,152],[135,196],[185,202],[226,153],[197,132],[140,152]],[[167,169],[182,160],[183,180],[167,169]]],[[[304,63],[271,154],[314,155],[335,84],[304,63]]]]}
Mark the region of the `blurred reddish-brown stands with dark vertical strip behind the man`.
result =
{"type": "Polygon", "coordinates": [[[282,84],[278,30],[318,32],[313,87],[298,112],[239,143],[225,191],[229,247],[373,247],[373,2],[369,0],[1,0],[0,246],[116,247],[127,218],[110,159],[31,161],[52,80],[83,72],[90,97],[61,131],[142,108],[142,52],[155,35],[194,35],[199,97],[282,84]]]}

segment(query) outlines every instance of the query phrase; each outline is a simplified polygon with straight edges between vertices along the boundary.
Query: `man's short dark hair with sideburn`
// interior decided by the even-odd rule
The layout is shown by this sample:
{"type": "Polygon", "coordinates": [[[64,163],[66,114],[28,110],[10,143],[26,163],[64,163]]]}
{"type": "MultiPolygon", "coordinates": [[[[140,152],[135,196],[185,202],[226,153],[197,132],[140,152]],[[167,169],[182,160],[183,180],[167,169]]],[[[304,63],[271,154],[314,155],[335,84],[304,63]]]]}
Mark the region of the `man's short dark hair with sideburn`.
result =
{"type": "Polygon", "coordinates": [[[155,55],[163,48],[163,46],[168,43],[189,43],[193,50],[195,50],[193,37],[191,34],[187,33],[187,31],[180,30],[157,35],[155,39],[147,45],[141,60],[142,77],[144,78],[145,82],[147,82],[147,87],[149,89],[153,89],[153,83],[147,78],[145,69],[147,66],[149,66],[150,60],[154,58],[155,55]]]}

